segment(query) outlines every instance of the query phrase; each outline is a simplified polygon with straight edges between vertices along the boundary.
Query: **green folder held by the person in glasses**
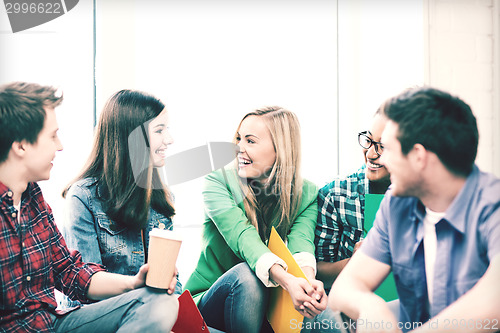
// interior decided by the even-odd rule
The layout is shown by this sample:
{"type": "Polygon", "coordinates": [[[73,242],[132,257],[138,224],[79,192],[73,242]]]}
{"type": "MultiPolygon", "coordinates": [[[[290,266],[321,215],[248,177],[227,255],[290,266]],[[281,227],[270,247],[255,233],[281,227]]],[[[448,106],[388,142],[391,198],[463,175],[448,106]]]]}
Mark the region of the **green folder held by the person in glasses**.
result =
{"type": "MultiPolygon", "coordinates": [[[[366,194],[365,195],[365,232],[371,229],[373,222],[375,221],[375,215],[377,215],[378,207],[380,202],[384,198],[383,194],[366,194]]],[[[382,282],[382,284],[375,290],[375,294],[382,297],[386,302],[395,300],[398,298],[398,292],[396,290],[396,283],[394,282],[394,276],[392,272],[389,273],[387,278],[382,282]]]]}

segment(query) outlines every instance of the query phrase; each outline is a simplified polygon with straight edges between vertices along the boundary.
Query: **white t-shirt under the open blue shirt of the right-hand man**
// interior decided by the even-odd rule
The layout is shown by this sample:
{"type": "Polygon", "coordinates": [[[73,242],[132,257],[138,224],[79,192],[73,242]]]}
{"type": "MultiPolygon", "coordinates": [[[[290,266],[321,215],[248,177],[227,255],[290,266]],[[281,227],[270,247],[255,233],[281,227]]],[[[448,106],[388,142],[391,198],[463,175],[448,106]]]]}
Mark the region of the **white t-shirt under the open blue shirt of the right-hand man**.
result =
{"type": "Polygon", "coordinates": [[[436,263],[437,237],[436,224],[443,218],[444,213],[436,213],[426,208],[424,218],[424,254],[425,254],[425,275],[427,278],[427,293],[429,304],[432,304],[434,294],[434,266],[436,263]]]}

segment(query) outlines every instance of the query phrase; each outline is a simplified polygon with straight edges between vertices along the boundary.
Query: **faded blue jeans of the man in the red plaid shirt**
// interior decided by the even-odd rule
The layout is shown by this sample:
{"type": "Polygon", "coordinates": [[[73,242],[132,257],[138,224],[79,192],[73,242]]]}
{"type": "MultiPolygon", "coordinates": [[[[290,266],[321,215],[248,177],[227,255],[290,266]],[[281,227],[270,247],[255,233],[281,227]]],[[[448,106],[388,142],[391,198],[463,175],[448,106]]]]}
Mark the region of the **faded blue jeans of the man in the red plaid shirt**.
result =
{"type": "Polygon", "coordinates": [[[177,296],[143,287],[52,316],[56,332],[170,332],[177,320],[177,296]]]}

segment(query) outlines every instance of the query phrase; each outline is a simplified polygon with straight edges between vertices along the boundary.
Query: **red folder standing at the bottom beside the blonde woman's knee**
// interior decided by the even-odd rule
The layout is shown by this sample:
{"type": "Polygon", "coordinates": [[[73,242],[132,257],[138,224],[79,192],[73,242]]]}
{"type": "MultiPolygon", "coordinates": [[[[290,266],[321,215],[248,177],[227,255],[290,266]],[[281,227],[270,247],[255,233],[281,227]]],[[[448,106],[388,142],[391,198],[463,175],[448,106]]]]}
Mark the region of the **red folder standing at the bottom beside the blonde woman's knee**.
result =
{"type": "Polygon", "coordinates": [[[179,300],[179,314],[172,332],[175,333],[206,333],[208,332],[207,324],[201,316],[198,307],[193,301],[193,297],[189,290],[185,290],[179,300]]]}

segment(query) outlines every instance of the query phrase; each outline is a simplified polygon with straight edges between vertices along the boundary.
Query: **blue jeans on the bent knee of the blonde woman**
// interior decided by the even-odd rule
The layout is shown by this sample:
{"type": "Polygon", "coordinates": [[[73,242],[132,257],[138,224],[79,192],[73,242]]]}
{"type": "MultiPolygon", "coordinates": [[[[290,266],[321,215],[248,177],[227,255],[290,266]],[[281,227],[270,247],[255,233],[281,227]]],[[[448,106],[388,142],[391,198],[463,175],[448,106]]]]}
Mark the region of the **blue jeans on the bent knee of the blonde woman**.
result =
{"type": "Polygon", "coordinates": [[[225,332],[261,332],[269,291],[247,263],[224,273],[201,298],[198,308],[208,326],[225,332]]]}

